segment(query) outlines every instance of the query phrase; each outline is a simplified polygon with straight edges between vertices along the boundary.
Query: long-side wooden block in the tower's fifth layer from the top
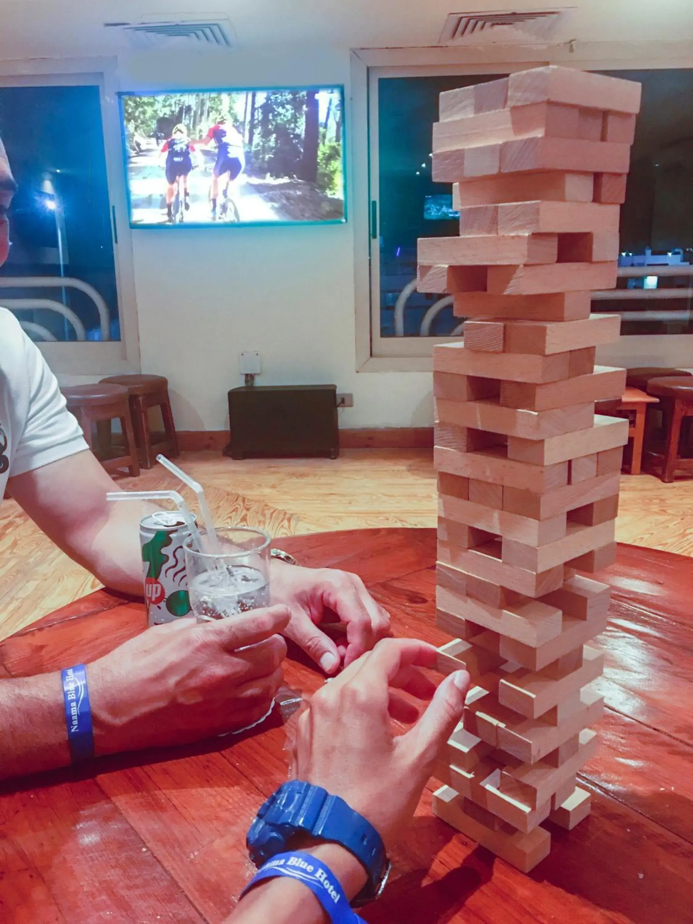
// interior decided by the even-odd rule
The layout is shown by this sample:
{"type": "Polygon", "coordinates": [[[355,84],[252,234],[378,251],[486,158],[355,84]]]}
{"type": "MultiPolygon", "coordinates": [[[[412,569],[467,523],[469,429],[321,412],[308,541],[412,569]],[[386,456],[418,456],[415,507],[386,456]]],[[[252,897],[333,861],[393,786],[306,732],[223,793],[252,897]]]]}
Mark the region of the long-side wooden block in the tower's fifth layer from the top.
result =
{"type": "MultiPolygon", "coordinates": [[[[523,201],[508,202],[495,208],[498,209],[499,236],[553,236],[559,232],[571,237],[577,232],[618,234],[620,209],[617,205],[602,205],[599,202],[523,201]]],[[[511,249],[507,249],[510,252],[511,249]]]]}

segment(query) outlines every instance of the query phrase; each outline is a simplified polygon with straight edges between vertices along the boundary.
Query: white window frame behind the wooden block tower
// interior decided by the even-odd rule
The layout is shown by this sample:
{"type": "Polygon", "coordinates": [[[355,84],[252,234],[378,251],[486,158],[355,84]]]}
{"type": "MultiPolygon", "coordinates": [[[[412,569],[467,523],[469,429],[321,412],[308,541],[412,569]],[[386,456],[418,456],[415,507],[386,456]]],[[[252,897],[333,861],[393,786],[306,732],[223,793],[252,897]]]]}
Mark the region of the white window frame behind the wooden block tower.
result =
{"type": "MultiPolygon", "coordinates": [[[[392,77],[512,73],[529,67],[562,64],[584,70],[655,70],[693,68],[686,43],[579,43],[541,49],[540,57],[521,46],[486,48],[359,49],[351,55],[352,161],[357,371],[432,371],[432,348],[459,342],[459,337],[382,337],[380,335],[380,248],[371,237],[371,202],[378,222],[378,80],[392,77]],[[663,48],[663,44],[667,46],[663,48]]],[[[602,350],[600,359],[614,365],[653,362],[691,365],[693,334],[628,335],[602,350]]]]}

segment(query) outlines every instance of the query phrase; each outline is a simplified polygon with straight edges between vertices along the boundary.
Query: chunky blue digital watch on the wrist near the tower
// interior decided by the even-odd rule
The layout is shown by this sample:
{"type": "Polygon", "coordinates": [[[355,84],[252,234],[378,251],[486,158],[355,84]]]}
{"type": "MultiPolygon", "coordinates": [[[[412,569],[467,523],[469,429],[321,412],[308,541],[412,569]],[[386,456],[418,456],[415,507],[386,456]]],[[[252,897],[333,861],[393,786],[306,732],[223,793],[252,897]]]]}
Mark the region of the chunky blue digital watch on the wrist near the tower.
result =
{"type": "Polygon", "coordinates": [[[344,799],[301,780],[282,784],[259,809],[246,837],[250,859],[260,867],[283,853],[298,833],[341,844],[366,869],[368,882],[353,906],[366,905],[383,892],[390,873],[383,838],[344,799]]]}

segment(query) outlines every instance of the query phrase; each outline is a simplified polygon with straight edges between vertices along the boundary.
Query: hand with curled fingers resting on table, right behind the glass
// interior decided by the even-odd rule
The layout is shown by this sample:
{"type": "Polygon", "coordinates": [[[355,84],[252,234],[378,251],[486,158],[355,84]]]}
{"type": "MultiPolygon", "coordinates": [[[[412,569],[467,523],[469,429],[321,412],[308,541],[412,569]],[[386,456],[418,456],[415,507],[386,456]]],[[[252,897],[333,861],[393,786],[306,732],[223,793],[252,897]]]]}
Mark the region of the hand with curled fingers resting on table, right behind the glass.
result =
{"type": "Polygon", "coordinates": [[[334,568],[300,568],[273,560],[270,578],[273,603],[286,603],[291,620],[284,634],[310,654],[326,674],[356,661],[390,631],[390,617],[376,603],[357,575],[334,568]],[[346,644],[336,644],[318,627],[325,611],[346,626],[346,644]]]}

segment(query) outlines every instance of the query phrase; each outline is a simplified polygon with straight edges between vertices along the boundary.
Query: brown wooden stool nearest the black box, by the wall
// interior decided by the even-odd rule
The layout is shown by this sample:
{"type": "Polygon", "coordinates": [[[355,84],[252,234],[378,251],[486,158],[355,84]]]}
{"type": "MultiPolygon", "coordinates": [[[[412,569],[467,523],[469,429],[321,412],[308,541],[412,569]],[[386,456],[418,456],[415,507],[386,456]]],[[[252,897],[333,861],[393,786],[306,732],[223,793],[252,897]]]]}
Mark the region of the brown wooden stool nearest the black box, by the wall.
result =
{"type": "Polygon", "coordinates": [[[123,385],[128,389],[130,413],[135,429],[135,443],[140,450],[142,468],[152,468],[157,453],[176,458],[178,438],[168,397],[168,379],[163,375],[110,375],[102,383],[123,385]],[[149,408],[160,407],[164,421],[164,438],[152,441],[149,427],[149,408]]]}

